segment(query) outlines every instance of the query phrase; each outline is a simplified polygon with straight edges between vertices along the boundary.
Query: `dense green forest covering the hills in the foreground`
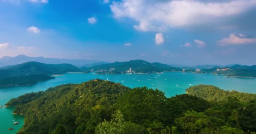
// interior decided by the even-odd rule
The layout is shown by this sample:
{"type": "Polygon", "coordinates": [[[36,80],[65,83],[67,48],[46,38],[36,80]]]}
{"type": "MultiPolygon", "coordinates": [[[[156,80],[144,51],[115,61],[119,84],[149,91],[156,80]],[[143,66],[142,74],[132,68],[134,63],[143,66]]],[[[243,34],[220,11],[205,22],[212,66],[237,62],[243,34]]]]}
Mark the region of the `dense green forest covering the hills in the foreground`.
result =
{"type": "Polygon", "coordinates": [[[157,89],[91,80],[6,105],[25,115],[18,134],[255,134],[255,95],[210,85],[187,92],[167,98],[157,89]]]}

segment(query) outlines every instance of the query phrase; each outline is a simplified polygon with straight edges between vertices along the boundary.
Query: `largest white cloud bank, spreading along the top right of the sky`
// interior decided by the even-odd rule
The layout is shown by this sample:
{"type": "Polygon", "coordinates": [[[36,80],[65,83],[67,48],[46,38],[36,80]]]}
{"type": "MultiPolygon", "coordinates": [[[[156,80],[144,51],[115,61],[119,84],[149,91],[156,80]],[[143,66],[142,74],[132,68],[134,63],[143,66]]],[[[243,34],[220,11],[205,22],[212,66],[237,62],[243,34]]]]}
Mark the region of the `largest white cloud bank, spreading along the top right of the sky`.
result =
{"type": "Polygon", "coordinates": [[[131,18],[139,31],[163,31],[168,27],[184,27],[218,23],[255,8],[256,0],[208,2],[199,0],[121,0],[110,5],[115,18],[131,18]]]}

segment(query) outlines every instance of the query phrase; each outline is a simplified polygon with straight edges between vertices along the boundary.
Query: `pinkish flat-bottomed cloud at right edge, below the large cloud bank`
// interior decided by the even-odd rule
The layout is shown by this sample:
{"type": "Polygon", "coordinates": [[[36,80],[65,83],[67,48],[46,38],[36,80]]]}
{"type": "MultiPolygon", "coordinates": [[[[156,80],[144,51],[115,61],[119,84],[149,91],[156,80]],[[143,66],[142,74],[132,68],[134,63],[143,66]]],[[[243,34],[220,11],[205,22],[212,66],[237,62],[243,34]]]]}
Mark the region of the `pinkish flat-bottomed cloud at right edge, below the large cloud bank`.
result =
{"type": "Polygon", "coordinates": [[[228,38],[223,38],[218,43],[222,46],[232,45],[232,44],[251,44],[256,43],[256,38],[248,38],[243,34],[236,35],[235,33],[230,33],[228,38]]]}

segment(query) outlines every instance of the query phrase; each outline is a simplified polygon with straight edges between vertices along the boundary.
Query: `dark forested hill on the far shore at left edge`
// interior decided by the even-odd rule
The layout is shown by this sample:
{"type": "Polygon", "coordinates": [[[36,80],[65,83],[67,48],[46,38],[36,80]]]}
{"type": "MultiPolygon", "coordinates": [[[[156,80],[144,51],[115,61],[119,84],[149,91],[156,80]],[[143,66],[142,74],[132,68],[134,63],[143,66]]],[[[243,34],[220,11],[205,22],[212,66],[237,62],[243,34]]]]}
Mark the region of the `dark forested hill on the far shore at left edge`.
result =
{"type": "Polygon", "coordinates": [[[66,72],[80,72],[80,69],[71,64],[26,62],[0,68],[0,85],[35,84],[38,81],[54,78],[48,75],[62,74],[66,72]]]}

